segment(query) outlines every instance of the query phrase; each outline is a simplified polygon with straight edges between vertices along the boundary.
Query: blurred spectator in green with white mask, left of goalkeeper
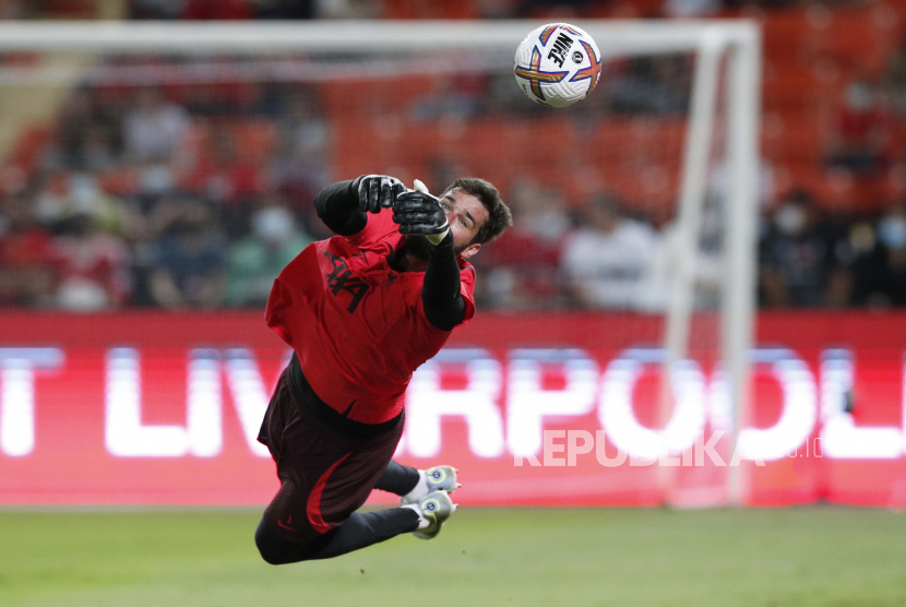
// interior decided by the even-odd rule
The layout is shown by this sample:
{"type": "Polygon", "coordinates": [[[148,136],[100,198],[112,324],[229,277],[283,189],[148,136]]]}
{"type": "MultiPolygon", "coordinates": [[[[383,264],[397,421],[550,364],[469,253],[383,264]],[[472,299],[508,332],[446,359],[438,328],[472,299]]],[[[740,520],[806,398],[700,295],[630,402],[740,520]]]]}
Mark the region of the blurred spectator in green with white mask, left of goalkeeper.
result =
{"type": "Polygon", "coordinates": [[[251,224],[251,235],[229,250],[230,306],[264,306],[277,274],[312,242],[296,230],[293,215],[283,206],[262,209],[251,224]]]}

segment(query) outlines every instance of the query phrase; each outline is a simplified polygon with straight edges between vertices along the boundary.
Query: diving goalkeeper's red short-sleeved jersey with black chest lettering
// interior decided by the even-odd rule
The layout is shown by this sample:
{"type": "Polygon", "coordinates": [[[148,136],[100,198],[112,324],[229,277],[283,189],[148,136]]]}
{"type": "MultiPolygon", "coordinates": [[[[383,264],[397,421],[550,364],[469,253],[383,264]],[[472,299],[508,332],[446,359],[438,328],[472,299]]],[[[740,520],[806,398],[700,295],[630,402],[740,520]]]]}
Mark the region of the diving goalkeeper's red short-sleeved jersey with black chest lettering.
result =
{"type": "MultiPolygon", "coordinates": [[[[413,372],[451,333],[425,316],[425,273],[400,273],[388,263],[404,238],[391,210],[369,214],[358,234],[306,247],[267,300],[267,325],[296,350],[314,393],[363,424],[400,414],[413,372]]],[[[457,261],[464,324],[475,316],[475,269],[457,261]]]]}

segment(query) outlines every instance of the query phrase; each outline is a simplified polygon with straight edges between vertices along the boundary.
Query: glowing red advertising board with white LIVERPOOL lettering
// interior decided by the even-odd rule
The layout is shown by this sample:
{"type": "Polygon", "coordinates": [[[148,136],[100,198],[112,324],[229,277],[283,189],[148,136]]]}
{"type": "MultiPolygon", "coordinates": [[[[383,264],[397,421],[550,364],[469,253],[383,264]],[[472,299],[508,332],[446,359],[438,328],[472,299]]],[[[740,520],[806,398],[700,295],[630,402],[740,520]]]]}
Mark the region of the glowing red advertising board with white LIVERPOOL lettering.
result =
{"type": "MultiPolygon", "coordinates": [[[[400,460],[455,465],[461,503],[719,500],[726,384],[687,365],[652,430],[658,329],[479,314],[416,374],[400,460]],[[649,465],[661,445],[677,465],[649,465]]],[[[906,314],[763,313],[759,344],[736,454],[747,502],[906,507],[906,314]]],[[[276,477],[253,439],[286,356],[259,314],[0,316],[0,503],[266,503],[276,477]]]]}

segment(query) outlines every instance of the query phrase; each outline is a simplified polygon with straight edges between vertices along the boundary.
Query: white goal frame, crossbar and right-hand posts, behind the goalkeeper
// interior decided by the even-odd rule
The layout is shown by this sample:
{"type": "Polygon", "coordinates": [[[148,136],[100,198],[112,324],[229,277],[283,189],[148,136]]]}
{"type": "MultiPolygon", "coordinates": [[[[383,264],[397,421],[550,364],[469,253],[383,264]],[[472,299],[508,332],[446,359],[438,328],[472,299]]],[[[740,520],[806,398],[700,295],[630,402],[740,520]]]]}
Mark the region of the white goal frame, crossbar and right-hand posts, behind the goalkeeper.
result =
{"type": "MultiPolygon", "coordinates": [[[[686,356],[693,313],[696,247],[708,182],[718,98],[726,108],[725,263],[722,359],[732,383],[734,433],[744,408],[755,312],[761,32],[749,21],[576,21],[604,57],[686,52],[695,56],[677,198],[678,279],[667,304],[668,362],[686,356]],[[720,79],[725,69],[726,78],[720,79]],[[723,87],[723,90],[722,90],[723,87]]],[[[417,51],[466,48],[512,57],[535,21],[162,23],[45,22],[0,24],[0,52],[246,55],[295,51],[417,51]]],[[[0,81],[15,68],[0,66],[0,81]]],[[[14,73],[13,73],[14,75],[14,73]]],[[[515,83],[513,84],[515,86],[515,83]]],[[[558,111],[558,110],[551,110],[558,111]]],[[[723,133],[722,133],[723,134],[723,133]]],[[[666,385],[669,382],[663,381],[666,385]]],[[[736,441],[734,441],[736,444],[736,441]]],[[[735,471],[734,471],[735,472],[735,471]]],[[[740,500],[731,472],[730,496],[740,500]]]]}

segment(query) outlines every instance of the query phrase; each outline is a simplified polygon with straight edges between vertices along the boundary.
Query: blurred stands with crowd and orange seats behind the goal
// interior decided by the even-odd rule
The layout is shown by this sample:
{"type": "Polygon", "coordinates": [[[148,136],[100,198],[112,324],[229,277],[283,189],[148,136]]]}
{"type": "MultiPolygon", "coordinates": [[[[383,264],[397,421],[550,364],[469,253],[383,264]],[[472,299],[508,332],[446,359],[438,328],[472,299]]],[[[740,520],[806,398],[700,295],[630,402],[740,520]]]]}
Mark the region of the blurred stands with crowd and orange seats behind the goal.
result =
{"type": "MultiPolygon", "coordinates": [[[[906,2],[0,0],[4,19],[738,15],[765,33],[761,305],[906,306],[906,2]]],[[[283,59],[255,63],[257,73],[285,69],[283,59]]],[[[0,56],[0,69],[38,60],[0,56]]],[[[44,119],[7,114],[4,129],[15,128],[0,133],[0,306],[260,308],[279,270],[330,236],[313,195],[391,172],[432,191],[466,174],[501,189],[515,227],[475,258],[482,306],[664,307],[689,57],[607,61],[595,93],[569,111],[534,106],[505,70],[401,86],[249,80],[248,63],[108,57],[44,119]],[[202,68],[218,78],[193,81],[202,68]],[[150,75],[135,80],[141,70],[150,75]],[[533,150],[536,135],[552,143],[533,150]],[[549,166],[558,146],[580,153],[549,166]],[[509,170],[508,157],[537,169],[509,170]]],[[[720,279],[719,237],[708,238],[724,182],[715,163],[704,299],[720,279]]]]}

